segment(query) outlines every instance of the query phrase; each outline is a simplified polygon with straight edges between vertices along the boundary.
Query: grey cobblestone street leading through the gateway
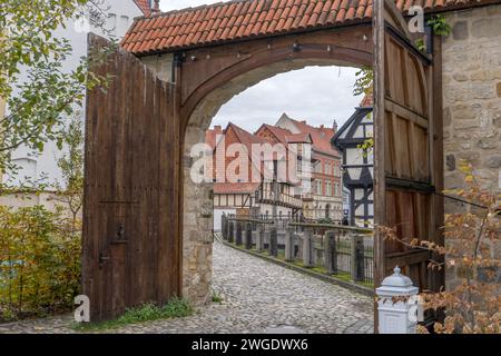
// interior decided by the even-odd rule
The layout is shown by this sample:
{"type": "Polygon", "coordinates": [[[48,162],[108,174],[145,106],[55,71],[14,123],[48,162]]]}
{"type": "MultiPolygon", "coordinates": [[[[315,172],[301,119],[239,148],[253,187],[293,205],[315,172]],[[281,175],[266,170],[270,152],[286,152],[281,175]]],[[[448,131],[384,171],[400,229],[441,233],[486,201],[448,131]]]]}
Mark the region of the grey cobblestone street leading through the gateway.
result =
{"type": "MultiPolygon", "coordinates": [[[[223,304],[190,317],[112,333],[372,333],[370,297],[216,243],[214,289],[223,304]]],[[[71,315],[0,325],[0,333],[75,333],[71,315]]]]}

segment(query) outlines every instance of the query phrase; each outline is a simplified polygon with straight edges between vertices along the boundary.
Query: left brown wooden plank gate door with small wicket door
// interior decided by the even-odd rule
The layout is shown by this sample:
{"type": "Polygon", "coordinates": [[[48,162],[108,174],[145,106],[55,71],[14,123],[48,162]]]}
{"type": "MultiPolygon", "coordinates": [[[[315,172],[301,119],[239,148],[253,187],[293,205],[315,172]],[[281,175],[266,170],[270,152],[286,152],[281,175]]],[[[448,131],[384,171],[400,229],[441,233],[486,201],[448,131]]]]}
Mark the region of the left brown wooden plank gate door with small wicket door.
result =
{"type": "MultiPolygon", "coordinates": [[[[89,48],[107,46],[89,36],[89,48]]],[[[87,97],[82,284],[92,322],[180,295],[174,90],[122,50],[96,67],[111,81],[87,97]]]]}

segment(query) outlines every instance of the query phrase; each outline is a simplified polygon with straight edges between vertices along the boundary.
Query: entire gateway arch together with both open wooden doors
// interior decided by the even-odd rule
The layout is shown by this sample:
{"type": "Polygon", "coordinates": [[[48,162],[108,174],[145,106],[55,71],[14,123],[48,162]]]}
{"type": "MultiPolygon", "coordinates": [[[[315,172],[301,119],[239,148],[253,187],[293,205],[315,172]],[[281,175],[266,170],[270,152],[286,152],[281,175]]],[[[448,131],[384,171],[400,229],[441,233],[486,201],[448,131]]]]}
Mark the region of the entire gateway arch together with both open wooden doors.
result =
{"type": "MultiPolygon", "coordinates": [[[[131,48],[138,49],[136,55],[150,56],[141,60],[154,70],[122,50],[99,68],[116,80],[109,92],[97,89],[88,96],[84,289],[91,297],[94,319],[145,301],[165,303],[174,295],[196,303],[208,299],[210,186],[189,181],[187,150],[204,140],[204,130],[224,102],[291,69],[371,66],[374,49],[376,222],[401,225],[418,217],[400,235],[418,231],[440,241],[442,202],[433,191],[442,186],[442,121],[432,88],[440,78],[433,58],[413,46],[395,4],[390,0],[375,4],[374,28],[370,21],[348,22],[199,48],[175,47],[165,53],[141,51],[158,42],[150,40],[131,48]],[[373,29],[375,46],[370,40],[373,29]],[[410,152],[402,149],[410,145],[410,152]],[[421,160],[402,159],[402,152],[421,160]],[[412,166],[409,174],[410,161],[423,167],[412,166]],[[407,198],[414,204],[406,205],[407,198]]],[[[144,39],[143,34],[134,37],[144,39]]],[[[440,275],[425,269],[430,256],[379,236],[375,243],[376,284],[397,263],[409,267],[422,288],[439,289],[440,275]]]]}

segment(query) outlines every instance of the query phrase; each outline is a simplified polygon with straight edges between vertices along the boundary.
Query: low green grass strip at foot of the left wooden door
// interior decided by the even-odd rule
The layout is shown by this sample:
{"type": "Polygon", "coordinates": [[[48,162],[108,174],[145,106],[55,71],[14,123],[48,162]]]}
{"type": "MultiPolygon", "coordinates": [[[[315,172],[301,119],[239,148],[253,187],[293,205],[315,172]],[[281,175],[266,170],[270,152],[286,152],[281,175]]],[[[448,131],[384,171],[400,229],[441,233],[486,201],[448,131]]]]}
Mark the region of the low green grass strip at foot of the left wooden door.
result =
{"type": "Polygon", "coordinates": [[[122,316],[101,323],[78,323],[73,324],[73,329],[79,332],[98,332],[116,329],[130,324],[139,324],[159,319],[174,319],[190,316],[194,313],[191,305],[179,298],[174,298],[164,306],[153,303],[145,304],[137,308],[127,309],[122,316]]]}

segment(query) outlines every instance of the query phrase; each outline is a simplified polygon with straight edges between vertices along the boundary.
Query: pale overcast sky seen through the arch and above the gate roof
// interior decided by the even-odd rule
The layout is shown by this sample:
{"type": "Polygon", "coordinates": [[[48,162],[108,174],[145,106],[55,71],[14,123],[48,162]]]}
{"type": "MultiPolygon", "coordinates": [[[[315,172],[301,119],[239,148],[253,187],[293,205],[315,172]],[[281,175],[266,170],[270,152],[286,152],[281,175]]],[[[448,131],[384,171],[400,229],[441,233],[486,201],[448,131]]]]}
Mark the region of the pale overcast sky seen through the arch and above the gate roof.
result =
{"type": "MultiPolygon", "coordinates": [[[[197,7],[220,0],[161,0],[163,11],[197,7]]],[[[248,131],[261,123],[275,123],[283,112],[308,123],[343,125],[362,100],[353,97],[354,68],[306,67],[263,80],[224,105],[213,120],[225,127],[232,121],[248,131]]]]}

